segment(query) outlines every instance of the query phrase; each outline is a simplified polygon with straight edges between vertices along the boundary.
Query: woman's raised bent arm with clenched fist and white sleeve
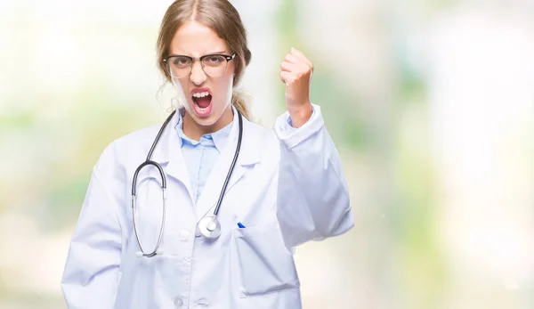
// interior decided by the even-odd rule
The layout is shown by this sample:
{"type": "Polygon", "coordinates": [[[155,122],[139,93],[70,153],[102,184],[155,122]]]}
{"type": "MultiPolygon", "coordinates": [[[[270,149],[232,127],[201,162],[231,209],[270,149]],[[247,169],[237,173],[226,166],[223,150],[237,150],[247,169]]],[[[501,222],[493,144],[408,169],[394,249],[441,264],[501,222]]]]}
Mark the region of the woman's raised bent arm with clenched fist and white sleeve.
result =
{"type": "Polygon", "coordinates": [[[280,68],[287,112],[274,127],[280,142],[277,217],[291,248],[347,232],[354,218],[341,159],[320,107],[310,102],[312,61],[292,48],[280,68]]]}

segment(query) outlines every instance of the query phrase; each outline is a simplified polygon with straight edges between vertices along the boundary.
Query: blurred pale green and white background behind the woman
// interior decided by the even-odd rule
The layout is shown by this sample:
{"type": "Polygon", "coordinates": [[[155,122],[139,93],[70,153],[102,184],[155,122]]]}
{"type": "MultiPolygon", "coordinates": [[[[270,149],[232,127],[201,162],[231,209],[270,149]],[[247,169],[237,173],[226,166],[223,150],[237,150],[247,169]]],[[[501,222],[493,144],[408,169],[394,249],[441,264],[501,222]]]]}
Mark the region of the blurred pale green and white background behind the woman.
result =
{"type": "MultiPolygon", "coordinates": [[[[65,308],[93,164],[161,122],[171,1],[0,1],[0,308],[65,308]]],[[[356,225],[296,250],[303,307],[534,307],[534,1],[235,0],[255,121],[279,63],[315,64],[356,225]]]]}

